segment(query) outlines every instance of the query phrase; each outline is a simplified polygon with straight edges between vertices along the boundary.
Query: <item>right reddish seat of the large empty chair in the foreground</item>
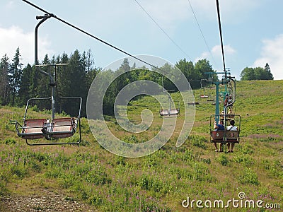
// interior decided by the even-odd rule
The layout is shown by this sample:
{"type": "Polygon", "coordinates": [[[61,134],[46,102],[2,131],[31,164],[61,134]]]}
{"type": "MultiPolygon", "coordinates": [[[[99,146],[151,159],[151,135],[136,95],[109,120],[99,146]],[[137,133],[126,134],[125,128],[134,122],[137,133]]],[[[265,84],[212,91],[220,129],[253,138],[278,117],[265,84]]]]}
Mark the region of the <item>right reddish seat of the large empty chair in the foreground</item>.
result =
{"type": "Polygon", "coordinates": [[[74,135],[76,132],[76,119],[59,118],[51,122],[50,137],[53,139],[64,139],[74,135]]]}

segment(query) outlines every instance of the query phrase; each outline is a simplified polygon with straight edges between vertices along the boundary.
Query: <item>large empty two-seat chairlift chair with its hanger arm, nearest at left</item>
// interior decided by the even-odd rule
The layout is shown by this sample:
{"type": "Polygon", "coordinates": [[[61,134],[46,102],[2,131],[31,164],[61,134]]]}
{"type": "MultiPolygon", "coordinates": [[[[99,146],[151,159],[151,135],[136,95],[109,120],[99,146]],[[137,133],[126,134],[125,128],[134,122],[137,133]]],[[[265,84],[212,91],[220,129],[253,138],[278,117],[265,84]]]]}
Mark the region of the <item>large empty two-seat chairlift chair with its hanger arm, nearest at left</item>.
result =
{"type": "MultiPolygon", "coordinates": [[[[31,98],[28,100],[25,107],[25,115],[23,117],[23,125],[19,124],[17,121],[11,121],[15,124],[16,131],[18,136],[25,139],[26,143],[30,146],[38,145],[54,145],[54,144],[78,144],[81,143],[81,97],[63,97],[60,99],[79,99],[79,114],[77,117],[70,118],[55,118],[55,99],[54,99],[54,87],[56,86],[56,67],[64,66],[67,64],[46,64],[39,65],[37,59],[37,30],[45,20],[48,18],[54,17],[52,14],[45,14],[45,16],[36,16],[36,19],[41,19],[35,27],[35,67],[36,70],[40,73],[48,76],[50,78],[50,88],[51,88],[51,97],[50,98],[31,98]],[[47,73],[40,69],[40,66],[54,66],[55,74],[47,73]],[[55,80],[53,78],[55,76],[55,80]],[[33,100],[50,100],[51,102],[51,119],[27,119],[28,106],[33,100]],[[79,129],[79,141],[77,142],[46,142],[46,143],[29,143],[28,140],[33,139],[47,139],[47,140],[57,140],[71,137],[79,129]]],[[[57,93],[57,95],[59,95],[57,93]]]]}

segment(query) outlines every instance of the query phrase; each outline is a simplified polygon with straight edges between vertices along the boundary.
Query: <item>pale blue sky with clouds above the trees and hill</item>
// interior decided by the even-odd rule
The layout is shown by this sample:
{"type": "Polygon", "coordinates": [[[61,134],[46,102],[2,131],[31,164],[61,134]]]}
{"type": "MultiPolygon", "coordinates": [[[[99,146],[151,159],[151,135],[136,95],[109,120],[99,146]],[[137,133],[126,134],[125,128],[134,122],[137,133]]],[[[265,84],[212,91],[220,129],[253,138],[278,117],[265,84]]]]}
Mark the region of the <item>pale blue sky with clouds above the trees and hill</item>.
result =
{"type": "MultiPolygon", "coordinates": [[[[154,55],[173,64],[184,58],[194,63],[206,58],[214,70],[223,69],[214,0],[137,0],[182,50],[135,0],[30,1],[130,54],[154,55]]],[[[219,5],[226,67],[231,74],[239,79],[245,67],[264,67],[268,63],[275,79],[283,79],[283,1],[219,0],[219,5]]],[[[24,1],[0,1],[0,57],[6,53],[12,58],[20,47],[23,64],[33,64],[38,15],[43,13],[24,1]]],[[[91,49],[96,66],[102,68],[126,57],[54,18],[40,26],[40,60],[46,53],[71,54],[75,49],[91,49]]]]}

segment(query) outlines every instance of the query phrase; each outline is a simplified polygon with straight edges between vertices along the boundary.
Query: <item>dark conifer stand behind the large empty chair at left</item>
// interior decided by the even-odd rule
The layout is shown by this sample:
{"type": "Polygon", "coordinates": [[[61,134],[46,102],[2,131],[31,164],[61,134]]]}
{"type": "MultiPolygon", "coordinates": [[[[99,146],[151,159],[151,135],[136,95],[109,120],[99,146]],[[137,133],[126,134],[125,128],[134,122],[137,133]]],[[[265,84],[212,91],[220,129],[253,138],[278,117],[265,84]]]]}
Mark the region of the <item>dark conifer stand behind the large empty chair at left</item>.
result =
{"type": "MultiPolygon", "coordinates": [[[[91,50],[80,54],[78,50],[67,55],[63,53],[52,58],[45,55],[41,65],[69,64],[67,66],[42,66],[40,69],[49,73],[56,79],[54,87],[55,112],[67,112],[77,115],[79,112],[79,102],[71,100],[59,100],[64,96],[79,96],[83,98],[81,115],[86,116],[86,97],[91,81],[101,70],[96,68],[93,62],[91,50]]],[[[48,98],[51,96],[50,78],[43,75],[35,65],[21,64],[20,49],[16,49],[13,59],[5,54],[0,60],[0,104],[11,105],[13,107],[23,107],[30,98],[48,98]]],[[[50,110],[50,100],[38,100],[32,104],[38,110],[50,110]]]]}

